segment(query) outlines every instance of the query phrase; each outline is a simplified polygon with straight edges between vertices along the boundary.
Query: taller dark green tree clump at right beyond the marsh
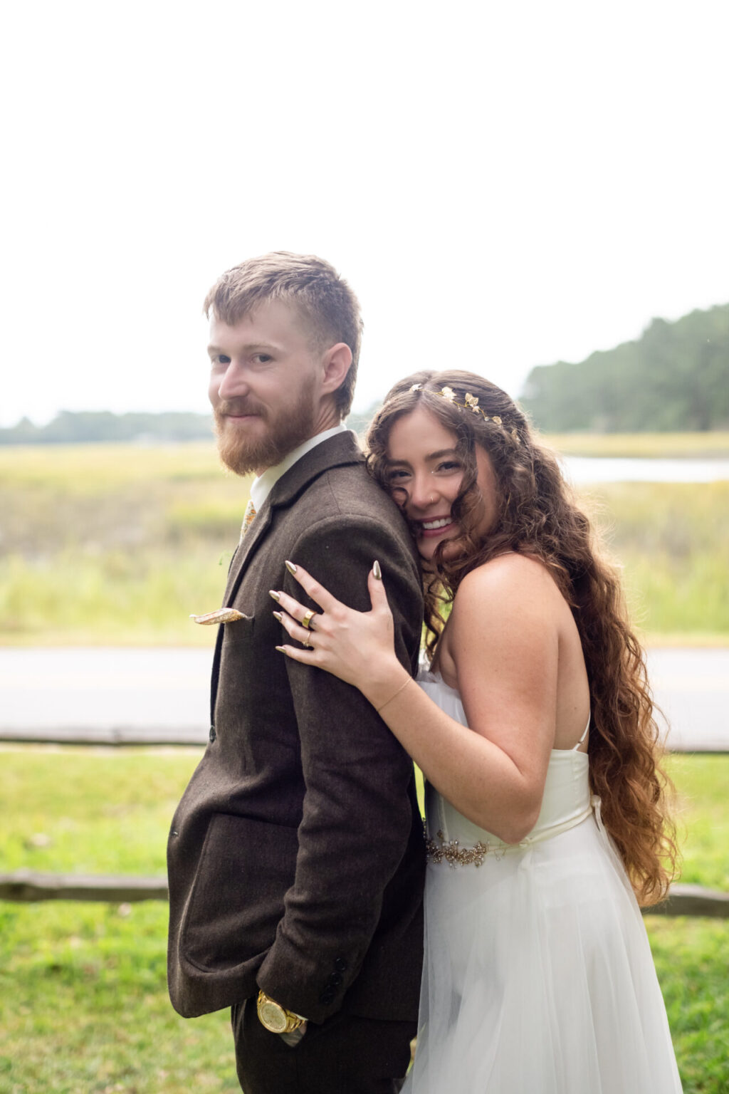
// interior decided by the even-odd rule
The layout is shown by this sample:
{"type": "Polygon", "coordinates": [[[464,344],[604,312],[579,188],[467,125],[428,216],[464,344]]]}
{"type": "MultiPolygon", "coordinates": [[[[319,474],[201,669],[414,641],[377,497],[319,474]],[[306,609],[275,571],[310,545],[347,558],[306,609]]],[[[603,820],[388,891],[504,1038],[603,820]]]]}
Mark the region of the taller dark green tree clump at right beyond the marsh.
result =
{"type": "Polygon", "coordinates": [[[548,432],[729,429],[729,304],[652,319],[578,364],[539,365],[519,401],[548,432]]]}

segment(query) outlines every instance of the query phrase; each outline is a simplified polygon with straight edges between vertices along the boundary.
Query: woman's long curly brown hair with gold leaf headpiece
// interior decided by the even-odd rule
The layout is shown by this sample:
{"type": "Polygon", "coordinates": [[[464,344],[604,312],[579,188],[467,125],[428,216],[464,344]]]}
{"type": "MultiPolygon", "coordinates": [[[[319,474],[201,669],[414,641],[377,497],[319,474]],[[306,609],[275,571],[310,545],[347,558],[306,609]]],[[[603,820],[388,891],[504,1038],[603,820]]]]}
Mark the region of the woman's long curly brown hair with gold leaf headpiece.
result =
{"type": "Polygon", "coordinates": [[[583,644],[590,688],[591,789],[601,799],[604,826],[639,904],[656,904],[675,876],[679,857],[668,813],[672,787],[660,767],[645,653],[630,627],[618,573],[555,454],[537,441],[505,392],[470,372],[413,373],[390,389],[373,419],[367,466],[402,508],[407,497],[388,481],[387,446],[393,423],[419,406],[456,435],[465,468],[451,507],[461,529],[459,549],[450,546],[444,557],[438,545],[423,573],[428,655],[467,573],[507,551],[538,558],[546,567],[572,608],[583,644]],[[487,453],[496,479],[497,513],[485,536],[477,532],[482,513],[477,444],[487,453]]]}

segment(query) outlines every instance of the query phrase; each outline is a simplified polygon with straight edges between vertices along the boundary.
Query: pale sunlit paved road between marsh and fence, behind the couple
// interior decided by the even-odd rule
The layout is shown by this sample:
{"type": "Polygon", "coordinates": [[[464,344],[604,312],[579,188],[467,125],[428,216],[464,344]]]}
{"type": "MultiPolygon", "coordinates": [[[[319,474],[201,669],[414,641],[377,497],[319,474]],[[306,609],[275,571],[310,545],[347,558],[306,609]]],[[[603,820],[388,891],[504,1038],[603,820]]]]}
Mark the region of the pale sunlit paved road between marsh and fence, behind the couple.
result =
{"type": "MultiPolygon", "coordinates": [[[[648,661],[671,747],[729,750],[729,649],[657,649],[648,661]]],[[[202,743],[210,662],[199,649],[0,649],[0,734],[126,730],[202,743]]]]}

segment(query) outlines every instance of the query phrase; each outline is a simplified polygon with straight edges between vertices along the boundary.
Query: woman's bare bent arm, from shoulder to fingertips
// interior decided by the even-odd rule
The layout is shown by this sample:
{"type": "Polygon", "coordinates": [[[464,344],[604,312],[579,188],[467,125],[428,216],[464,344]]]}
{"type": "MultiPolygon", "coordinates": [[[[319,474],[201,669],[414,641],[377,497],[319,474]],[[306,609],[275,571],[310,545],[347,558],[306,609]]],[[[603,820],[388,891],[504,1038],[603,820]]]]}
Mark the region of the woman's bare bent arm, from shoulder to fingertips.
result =
{"type": "MultiPolygon", "coordinates": [[[[533,560],[510,555],[463,579],[448,622],[448,652],[468,726],[410,679],[392,649],[383,582],[369,574],[372,612],[351,612],[301,567],[295,574],[324,612],[314,635],[304,609],[280,595],[282,624],[313,649],[281,648],[357,687],[428,782],[465,816],[506,842],[533,827],[554,742],[557,627],[555,586],[533,560]]],[[[558,595],[558,594],[556,594],[558,595]]]]}

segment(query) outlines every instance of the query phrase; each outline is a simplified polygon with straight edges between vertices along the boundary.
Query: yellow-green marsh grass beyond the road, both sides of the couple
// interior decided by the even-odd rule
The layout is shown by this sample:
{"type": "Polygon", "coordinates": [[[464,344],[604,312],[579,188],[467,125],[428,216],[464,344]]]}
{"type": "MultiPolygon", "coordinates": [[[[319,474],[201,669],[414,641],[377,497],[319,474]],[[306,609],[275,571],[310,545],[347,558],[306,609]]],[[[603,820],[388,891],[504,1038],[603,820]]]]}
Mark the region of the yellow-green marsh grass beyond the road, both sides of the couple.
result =
{"type": "MultiPolygon", "coordinates": [[[[591,455],[729,451],[725,433],[556,442],[591,455]]],[[[0,643],[205,644],[189,615],[220,605],[247,493],[212,441],[0,449],[0,643]]],[[[729,640],[729,482],[612,484],[581,499],[646,641],[729,640]]]]}

